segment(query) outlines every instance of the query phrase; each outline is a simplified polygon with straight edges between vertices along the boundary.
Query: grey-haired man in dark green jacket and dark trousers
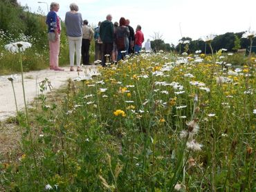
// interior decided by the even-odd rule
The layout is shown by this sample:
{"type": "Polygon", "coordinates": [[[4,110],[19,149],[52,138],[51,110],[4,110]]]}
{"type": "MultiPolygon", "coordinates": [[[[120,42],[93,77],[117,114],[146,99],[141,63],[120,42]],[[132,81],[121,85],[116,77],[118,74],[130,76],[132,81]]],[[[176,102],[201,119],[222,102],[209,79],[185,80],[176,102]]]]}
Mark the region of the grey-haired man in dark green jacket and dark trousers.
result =
{"type": "Polygon", "coordinates": [[[109,14],[106,20],[100,24],[100,39],[102,40],[102,66],[106,66],[106,60],[111,61],[113,50],[113,23],[112,16],[109,14]]]}

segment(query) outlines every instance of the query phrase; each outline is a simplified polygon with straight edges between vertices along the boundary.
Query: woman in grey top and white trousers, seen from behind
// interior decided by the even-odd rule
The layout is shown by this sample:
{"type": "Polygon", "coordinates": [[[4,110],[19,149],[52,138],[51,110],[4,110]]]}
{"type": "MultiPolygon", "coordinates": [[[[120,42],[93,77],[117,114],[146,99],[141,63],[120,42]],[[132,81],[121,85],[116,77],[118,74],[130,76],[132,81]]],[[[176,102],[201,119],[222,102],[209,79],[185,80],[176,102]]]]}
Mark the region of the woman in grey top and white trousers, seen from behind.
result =
{"type": "Polygon", "coordinates": [[[76,55],[77,71],[82,71],[80,68],[83,22],[82,15],[80,12],[77,12],[77,4],[71,3],[69,8],[71,10],[66,12],[65,24],[66,35],[68,35],[70,70],[74,70],[74,57],[76,55]]]}

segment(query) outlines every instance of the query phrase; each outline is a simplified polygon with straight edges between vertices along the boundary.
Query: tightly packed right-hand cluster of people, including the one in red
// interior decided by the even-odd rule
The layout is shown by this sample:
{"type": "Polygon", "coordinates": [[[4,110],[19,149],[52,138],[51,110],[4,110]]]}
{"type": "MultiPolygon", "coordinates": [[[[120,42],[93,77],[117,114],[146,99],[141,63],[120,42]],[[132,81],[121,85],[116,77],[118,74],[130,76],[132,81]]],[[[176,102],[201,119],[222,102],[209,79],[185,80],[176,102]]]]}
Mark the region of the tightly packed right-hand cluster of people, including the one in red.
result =
{"type": "Polygon", "coordinates": [[[115,63],[125,55],[140,52],[144,41],[141,26],[138,25],[134,32],[129,23],[124,17],[119,23],[112,23],[112,16],[107,15],[106,20],[95,28],[95,60],[101,59],[102,66],[106,66],[107,59],[115,63]]]}

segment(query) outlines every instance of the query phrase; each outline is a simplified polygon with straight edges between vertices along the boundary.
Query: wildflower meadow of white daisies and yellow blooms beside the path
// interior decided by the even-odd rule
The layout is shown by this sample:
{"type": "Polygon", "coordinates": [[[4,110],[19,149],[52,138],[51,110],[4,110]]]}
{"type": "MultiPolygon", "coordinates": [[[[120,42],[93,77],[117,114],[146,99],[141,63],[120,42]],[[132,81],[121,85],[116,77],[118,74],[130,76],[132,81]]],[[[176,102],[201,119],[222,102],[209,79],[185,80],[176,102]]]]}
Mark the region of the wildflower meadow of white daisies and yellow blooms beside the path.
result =
{"type": "Polygon", "coordinates": [[[21,153],[0,163],[0,186],[256,191],[256,58],[229,57],[141,52],[70,79],[58,99],[42,82],[38,106],[17,116],[21,153]]]}

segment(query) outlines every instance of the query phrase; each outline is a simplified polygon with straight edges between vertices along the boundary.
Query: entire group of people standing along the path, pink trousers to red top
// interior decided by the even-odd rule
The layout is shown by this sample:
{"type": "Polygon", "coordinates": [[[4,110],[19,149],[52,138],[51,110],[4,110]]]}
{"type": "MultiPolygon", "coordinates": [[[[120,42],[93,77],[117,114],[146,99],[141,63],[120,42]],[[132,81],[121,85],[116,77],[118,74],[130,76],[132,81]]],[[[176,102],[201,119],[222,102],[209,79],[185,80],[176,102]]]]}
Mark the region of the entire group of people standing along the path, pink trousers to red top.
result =
{"type": "MultiPolygon", "coordinates": [[[[81,55],[82,64],[89,65],[89,48],[93,37],[95,40],[95,61],[100,61],[103,67],[106,66],[107,61],[115,63],[127,54],[140,52],[144,41],[140,25],[134,32],[134,29],[129,26],[129,19],[121,17],[119,23],[113,24],[112,16],[107,15],[106,20],[99,22],[98,27],[93,30],[88,26],[87,20],[82,20],[77,4],[71,3],[69,7],[70,11],[66,12],[65,25],[71,71],[75,70],[75,55],[77,71],[82,71],[80,68],[81,55]]],[[[51,70],[63,70],[59,67],[58,61],[61,32],[60,18],[57,16],[59,8],[58,3],[51,3],[51,11],[48,12],[46,18],[51,70]]]]}

